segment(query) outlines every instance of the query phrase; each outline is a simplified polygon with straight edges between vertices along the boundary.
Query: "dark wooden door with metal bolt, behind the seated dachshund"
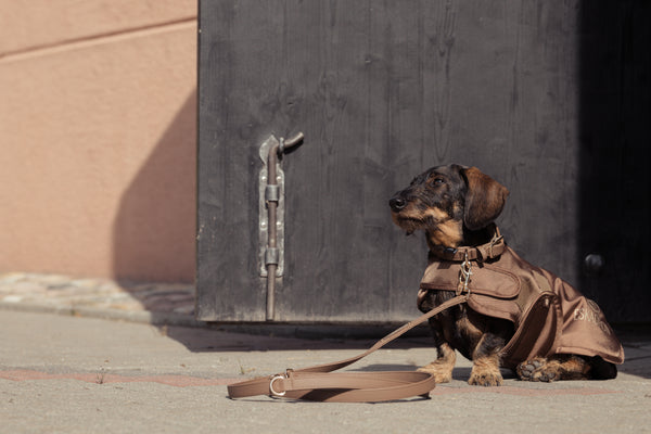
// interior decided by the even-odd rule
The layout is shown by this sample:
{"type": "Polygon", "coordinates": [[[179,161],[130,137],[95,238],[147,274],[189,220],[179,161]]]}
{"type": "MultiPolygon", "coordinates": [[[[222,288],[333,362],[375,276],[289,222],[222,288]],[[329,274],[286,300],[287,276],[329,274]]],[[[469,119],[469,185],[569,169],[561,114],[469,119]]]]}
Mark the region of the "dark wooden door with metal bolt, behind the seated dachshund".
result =
{"type": "Polygon", "coordinates": [[[387,200],[416,174],[451,162],[477,166],[510,189],[498,224],[525,258],[586,286],[612,319],[643,320],[646,310],[612,288],[626,284],[649,306],[648,267],[630,264],[617,245],[625,241],[649,259],[648,228],[627,231],[649,220],[649,133],[640,124],[649,114],[649,30],[640,21],[648,8],[612,2],[602,12],[542,0],[200,5],[200,319],[265,320],[258,150],[270,135],[303,131],[305,144],[282,162],[277,320],[413,318],[426,246],[393,226],[387,200]],[[628,26],[637,39],[623,41],[628,26]],[[612,56],[601,59],[590,48],[596,41],[612,56]],[[633,55],[626,47],[643,59],[631,60],[641,63],[625,69],[630,82],[610,98],[620,119],[631,115],[626,104],[640,112],[611,126],[605,107],[585,105],[601,106],[597,92],[617,80],[617,55],[633,55]],[[601,61],[605,69],[586,69],[593,65],[585,62],[601,61]],[[621,139],[621,128],[626,151],[601,135],[621,139]],[[624,158],[631,151],[639,158],[624,158]],[[613,178],[626,179],[624,190],[640,183],[644,199],[635,209],[613,178]],[[595,179],[617,209],[591,190],[595,179]],[[600,221],[613,231],[608,237],[600,221]],[[589,253],[604,265],[588,277],[589,253]]]}

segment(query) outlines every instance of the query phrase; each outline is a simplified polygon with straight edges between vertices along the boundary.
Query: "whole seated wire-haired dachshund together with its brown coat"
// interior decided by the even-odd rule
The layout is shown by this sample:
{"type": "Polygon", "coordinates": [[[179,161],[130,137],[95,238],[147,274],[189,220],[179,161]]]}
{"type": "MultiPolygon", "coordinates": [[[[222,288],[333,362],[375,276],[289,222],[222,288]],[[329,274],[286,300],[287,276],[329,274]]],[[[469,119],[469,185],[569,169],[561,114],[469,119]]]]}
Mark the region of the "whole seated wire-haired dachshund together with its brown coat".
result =
{"type": "Polygon", "coordinates": [[[419,370],[433,374],[437,383],[449,382],[458,350],[473,362],[468,381],[471,385],[501,385],[500,368],[514,370],[525,381],[614,379],[615,363],[623,362],[624,353],[598,306],[506,246],[494,221],[501,214],[508,195],[506,187],[476,167],[451,164],[417,176],[390,200],[393,221],[408,235],[423,230],[426,237],[430,267],[421,283],[419,309],[429,311],[464,291],[470,297],[468,303],[430,319],[437,357],[419,370]],[[494,252],[498,244],[501,245],[499,251],[505,253],[494,252]],[[471,260],[468,252],[473,250],[477,258],[471,260]],[[464,259],[457,258],[457,263],[445,259],[455,254],[459,256],[461,251],[465,252],[464,259]],[[510,260],[524,267],[524,271],[502,269],[498,260],[510,260]],[[468,271],[465,278],[462,270],[468,271]],[[482,277],[487,272],[493,275],[482,277]],[[519,273],[524,277],[518,277],[519,273]],[[450,282],[458,278],[459,283],[445,283],[443,275],[451,276],[450,282]],[[493,281],[497,284],[486,283],[493,281]],[[482,285],[488,291],[484,295],[488,308],[476,302],[482,298],[476,293],[482,285]],[[492,285],[495,288],[487,288],[492,285]],[[545,288],[532,290],[532,285],[545,288]],[[514,299],[514,294],[525,290],[538,297],[535,307],[539,314],[535,318],[522,317],[525,312],[519,309],[523,307],[514,302],[502,309],[509,310],[508,315],[495,304],[499,297],[514,299]],[[494,296],[489,291],[512,293],[494,296]],[[570,306],[562,305],[561,298],[570,299],[570,306]],[[474,304],[470,303],[473,301],[474,304]],[[497,315],[489,316],[484,310],[497,311],[497,315]],[[580,334],[575,333],[577,331],[580,334]],[[527,342],[542,334],[550,336],[549,340],[527,342]],[[607,341],[605,348],[599,346],[600,340],[607,341]],[[507,349],[515,356],[507,356],[507,349]]]}

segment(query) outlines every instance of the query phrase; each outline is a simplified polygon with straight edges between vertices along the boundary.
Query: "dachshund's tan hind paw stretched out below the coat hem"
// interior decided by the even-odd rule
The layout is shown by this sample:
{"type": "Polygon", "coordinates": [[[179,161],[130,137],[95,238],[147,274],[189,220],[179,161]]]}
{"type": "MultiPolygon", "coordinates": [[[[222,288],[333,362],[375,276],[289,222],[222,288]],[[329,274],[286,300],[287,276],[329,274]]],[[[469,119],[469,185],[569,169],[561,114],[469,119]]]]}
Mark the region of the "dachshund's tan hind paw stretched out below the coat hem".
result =
{"type": "Polygon", "coordinates": [[[556,355],[523,361],[516,372],[524,381],[588,380],[590,365],[574,355],[556,355]]]}

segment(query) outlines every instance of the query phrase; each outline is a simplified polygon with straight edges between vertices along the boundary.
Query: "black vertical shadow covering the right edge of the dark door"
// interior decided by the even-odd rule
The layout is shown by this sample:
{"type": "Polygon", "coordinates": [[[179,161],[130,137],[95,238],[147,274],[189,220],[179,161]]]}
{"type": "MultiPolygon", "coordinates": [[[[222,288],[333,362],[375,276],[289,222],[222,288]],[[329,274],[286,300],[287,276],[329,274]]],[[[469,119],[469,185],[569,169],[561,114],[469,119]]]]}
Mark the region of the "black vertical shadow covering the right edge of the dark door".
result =
{"type": "Polygon", "coordinates": [[[580,2],[579,288],[614,323],[651,307],[650,20],[651,2],[580,2]]]}

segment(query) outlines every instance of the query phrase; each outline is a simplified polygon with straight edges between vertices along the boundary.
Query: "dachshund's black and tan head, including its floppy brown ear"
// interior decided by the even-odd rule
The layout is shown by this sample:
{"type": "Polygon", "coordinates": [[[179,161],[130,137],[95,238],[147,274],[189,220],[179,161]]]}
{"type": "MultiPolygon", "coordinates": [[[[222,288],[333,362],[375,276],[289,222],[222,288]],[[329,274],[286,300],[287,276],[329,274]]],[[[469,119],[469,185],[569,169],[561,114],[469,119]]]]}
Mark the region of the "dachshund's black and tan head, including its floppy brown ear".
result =
{"type": "Polygon", "coordinates": [[[509,191],[476,167],[432,167],[397,192],[388,204],[394,222],[407,234],[422,229],[430,242],[456,247],[464,228],[476,231],[501,213],[509,191]]]}

